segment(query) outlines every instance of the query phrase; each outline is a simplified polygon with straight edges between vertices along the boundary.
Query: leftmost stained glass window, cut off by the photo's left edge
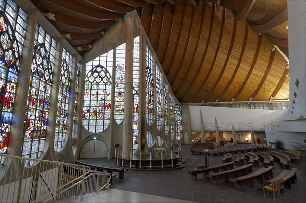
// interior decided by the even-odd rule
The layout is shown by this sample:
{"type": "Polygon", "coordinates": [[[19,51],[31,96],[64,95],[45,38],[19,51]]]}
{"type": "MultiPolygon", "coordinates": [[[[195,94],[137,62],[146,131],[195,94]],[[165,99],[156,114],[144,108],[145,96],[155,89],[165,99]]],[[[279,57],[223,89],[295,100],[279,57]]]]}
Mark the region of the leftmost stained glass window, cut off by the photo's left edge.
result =
{"type": "Polygon", "coordinates": [[[7,153],[28,15],[13,1],[0,2],[0,153],[7,153]]]}

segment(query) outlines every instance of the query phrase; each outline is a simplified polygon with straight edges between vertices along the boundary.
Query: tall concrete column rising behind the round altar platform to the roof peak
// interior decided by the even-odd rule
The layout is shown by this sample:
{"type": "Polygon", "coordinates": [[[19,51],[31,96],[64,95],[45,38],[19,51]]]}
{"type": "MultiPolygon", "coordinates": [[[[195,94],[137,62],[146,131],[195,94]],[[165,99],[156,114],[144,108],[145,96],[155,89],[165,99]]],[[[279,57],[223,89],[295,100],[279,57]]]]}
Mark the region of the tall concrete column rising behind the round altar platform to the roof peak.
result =
{"type": "Polygon", "coordinates": [[[123,119],[123,157],[130,158],[132,144],[133,118],[133,27],[134,19],[131,15],[125,16],[126,49],[125,49],[125,89],[124,89],[124,119],[123,119]]]}

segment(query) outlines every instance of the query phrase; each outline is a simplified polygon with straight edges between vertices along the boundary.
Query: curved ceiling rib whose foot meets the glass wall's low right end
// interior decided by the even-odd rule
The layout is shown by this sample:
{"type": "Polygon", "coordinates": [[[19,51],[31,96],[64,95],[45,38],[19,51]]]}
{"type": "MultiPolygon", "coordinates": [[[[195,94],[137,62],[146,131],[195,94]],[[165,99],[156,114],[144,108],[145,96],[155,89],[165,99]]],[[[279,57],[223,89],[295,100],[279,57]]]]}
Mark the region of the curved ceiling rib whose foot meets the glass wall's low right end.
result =
{"type": "Polygon", "coordinates": [[[189,84],[187,91],[184,93],[184,95],[181,97],[180,101],[183,101],[187,95],[187,93],[190,92],[191,88],[194,86],[195,81],[197,80],[197,78],[199,77],[199,73],[201,71],[201,67],[203,66],[204,60],[206,58],[206,54],[207,54],[207,50],[208,50],[208,46],[209,46],[209,42],[210,42],[210,38],[211,38],[211,34],[212,34],[212,30],[213,30],[213,21],[214,21],[214,11],[215,11],[215,5],[213,4],[212,6],[212,13],[211,13],[211,20],[210,20],[210,27],[209,27],[209,33],[208,33],[208,37],[207,37],[207,42],[206,42],[206,47],[205,47],[205,51],[203,53],[202,56],[202,60],[201,63],[196,71],[195,74],[195,78],[193,79],[193,81],[191,82],[191,84],[189,84]]]}

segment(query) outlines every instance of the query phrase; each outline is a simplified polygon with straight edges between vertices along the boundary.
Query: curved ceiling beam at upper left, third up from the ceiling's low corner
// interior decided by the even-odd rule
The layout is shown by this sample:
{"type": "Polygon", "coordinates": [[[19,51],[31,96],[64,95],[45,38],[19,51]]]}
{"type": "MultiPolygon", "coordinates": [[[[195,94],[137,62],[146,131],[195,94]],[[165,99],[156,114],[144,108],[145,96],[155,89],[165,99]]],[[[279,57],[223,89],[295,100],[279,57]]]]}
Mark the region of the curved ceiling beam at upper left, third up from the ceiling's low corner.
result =
{"type": "Polygon", "coordinates": [[[88,30],[102,30],[116,23],[115,20],[108,20],[104,22],[84,22],[84,21],[78,20],[78,23],[75,23],[77,19],[68,18],[65,16],[58,15],[58,14],[47,13],[43,15],[46,15],[46,17],[49,20],[52,20],[56,23],[68,25],[71,27],[88,29],[88,30]]]}

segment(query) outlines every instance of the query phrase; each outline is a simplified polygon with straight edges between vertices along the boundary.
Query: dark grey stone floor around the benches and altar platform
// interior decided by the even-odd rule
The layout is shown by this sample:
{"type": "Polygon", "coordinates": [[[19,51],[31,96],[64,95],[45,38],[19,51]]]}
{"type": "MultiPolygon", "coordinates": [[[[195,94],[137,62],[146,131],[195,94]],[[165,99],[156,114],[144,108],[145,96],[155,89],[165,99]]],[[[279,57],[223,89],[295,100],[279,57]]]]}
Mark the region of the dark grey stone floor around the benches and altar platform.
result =
{"type": "MultiPolygon", "coordinates": [[[[137,192],[161,197],[174,198],[193,202],[306,202],[306,157],[303,152],[301,163],[292,163],[293,168],[297,168],[297,181],[292,184],[291,189],[285,188],[285,194],[280,199],[273,200],[273,195],[263,196],[264,184],[255,183],[255,187],[243,186],[243,192],[234,189],[230,182],[219,181],[218,186],[209,182],[209,179],[198,176],[198,181],[191,179],[187,171],[196,167],[196,164],[204,164],[204,155],[193,155],[190,152],[191,146],[182,145],[182,157],[186,159],[184,169],[164,170],[164,171],[135,171],[125,172],[124,179],[113,178],[110,186],[112,189],[137,192]]],[[[209,156],[209,166],[222,164],[223,156],[209,156]]],[[[82,159],[95,165],[115,167],[114,159],[104,158],[82,159]]],[[[246,164],[245,160],[245,164],[246,164]]],[[[263,167],[260,161],[259,167],[263,167]]],[[[258,168],[253,168],[253,171],[258,168]]],[[[277,176],[283,167],[281,163],[274,161],[273,177],[277,176]]],[[[132,193],[131,193],[132,194],[132,193]]],[[[129,195],[127,195],[129,196],[129,195]]],[[[146,197],[142,197],[146,198],[146,197]]],[[[128,200],[122,202],[132,202],[128,200]]],[[[152,199],[151,199],[152,200],[152,199]]],[[[107,199],[98,198],[96,202],[108,202],[107,199]]],[[[120,201],[119,201],[120,202],[120,201]]],[[[133,202],[148,202],[145,199],[134,200],[133,202]]],[[[152,202],[160,202],[152,200],[152,202]]]]}

